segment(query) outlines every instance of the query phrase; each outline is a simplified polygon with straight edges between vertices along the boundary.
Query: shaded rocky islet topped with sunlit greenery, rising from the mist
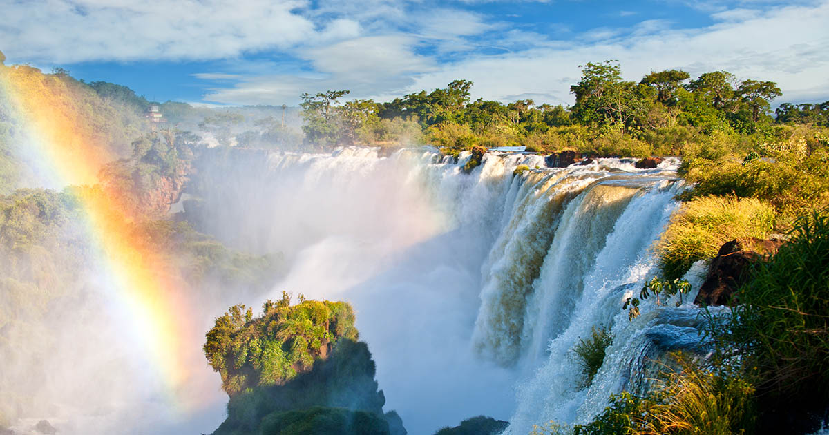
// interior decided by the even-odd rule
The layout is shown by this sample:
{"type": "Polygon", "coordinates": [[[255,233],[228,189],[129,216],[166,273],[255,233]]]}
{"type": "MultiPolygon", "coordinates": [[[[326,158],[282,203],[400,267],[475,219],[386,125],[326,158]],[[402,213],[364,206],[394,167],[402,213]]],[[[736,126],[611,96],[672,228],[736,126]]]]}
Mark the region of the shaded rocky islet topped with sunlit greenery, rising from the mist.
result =
{"type": "MultiPolygon", "coordinates": [[[[301,298],[302,299],[302,298],[301,298]]],[[[261,317],[235,305],[206,334],[207,360],[230,395],[221,434],[405,434],[374,379],[365,343],[356,342],[346,302],[301,301],[283,293],[261,317]]]]}

